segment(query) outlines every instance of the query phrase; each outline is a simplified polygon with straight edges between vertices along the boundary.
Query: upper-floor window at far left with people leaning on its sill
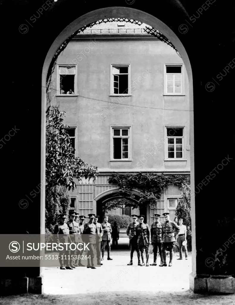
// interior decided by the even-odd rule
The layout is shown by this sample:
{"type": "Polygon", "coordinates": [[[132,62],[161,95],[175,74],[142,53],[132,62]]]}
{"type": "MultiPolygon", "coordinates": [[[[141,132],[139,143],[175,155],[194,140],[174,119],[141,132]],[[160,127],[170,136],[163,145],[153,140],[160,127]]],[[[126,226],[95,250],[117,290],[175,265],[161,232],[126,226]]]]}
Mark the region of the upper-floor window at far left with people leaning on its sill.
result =
{"type": "Polygon", "coordinates": [[[59,65],[57,75],[57,92],[59,95],[77,95],[77,66],[59,65]]]}

